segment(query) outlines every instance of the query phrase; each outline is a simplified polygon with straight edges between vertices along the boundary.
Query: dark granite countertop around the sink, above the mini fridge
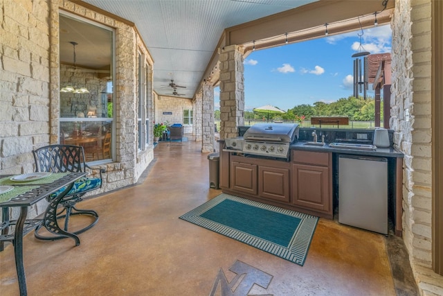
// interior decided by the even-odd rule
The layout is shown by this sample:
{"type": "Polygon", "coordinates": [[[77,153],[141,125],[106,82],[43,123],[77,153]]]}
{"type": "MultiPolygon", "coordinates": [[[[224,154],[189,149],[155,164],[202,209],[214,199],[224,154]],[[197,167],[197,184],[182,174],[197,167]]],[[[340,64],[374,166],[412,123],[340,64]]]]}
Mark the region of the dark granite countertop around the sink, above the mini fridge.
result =
{"type": "Polygon", "coordinates": [[[364,155],[364,156],[380,156],[380,157],[404,157],[403,153],[399,150],[388,147],[388,148],[377,148],[375,150],[362,150],[362,149],[348,149],[348,148],[334,148],[330,147],[328,143],[323,146],[311,146],[305,145],[305,141],[298,141],[290,146],[291,150],[304,150],[313,152],[332,152],[332,153],[342,153],[342,154],[352,154],[352,155],[364,155]]]}

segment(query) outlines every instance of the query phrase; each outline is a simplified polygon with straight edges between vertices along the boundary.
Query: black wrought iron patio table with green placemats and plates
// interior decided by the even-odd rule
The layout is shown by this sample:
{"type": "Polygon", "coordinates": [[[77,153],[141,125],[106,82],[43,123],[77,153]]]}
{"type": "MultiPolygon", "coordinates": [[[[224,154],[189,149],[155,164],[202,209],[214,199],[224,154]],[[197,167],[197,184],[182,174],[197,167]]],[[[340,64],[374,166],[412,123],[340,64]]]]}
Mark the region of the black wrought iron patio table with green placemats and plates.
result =
{"type": "MultiPolygon", "coordinates": [[[[80,179],[80,177],[84,177],[87,175],[87,173],[59,173],[54,175],[60,175],[60,177],[57,178],[57,180],[51,180],[47,183],[45,183],[44,179],[30,182],[14,182],[13,186],[28,186],[26,189],[22,190],[26,192],[19,193],[6,202],[0,202],[0,207],[3,208],[3,221],[0,225],[0,247],[1,249],[3,248],[3,243],[5,241],[11,241],[14,244],[15,267],[17,269],[20,295],[28,295],[23,265],[24,234],[27,234],[31,230],[35,229],[35,227],[37,227],[40,223],[44,223],[44,226],[49,232],[71,237],[75,241],[75,245],[80,245],[80,239],[78,236],[65,232],[63,229],[58,227],[57,206],[64,195],[71,190],[75,180],[80,179]],[[26,219],[29,206],[39,202],[39,200],[48,197],[52,193],[55,193],[64,187],[66,187],[64,191],[57,195],[56,198],[51,200],[42,219],[26,219]],[[20,207],[20,215],[17,220],[9,219],[8,207],[20,207]],[[12,225],[15,225],[14,234],[8,234],[9,227],[12,225]]],[[[12,177],[12,175],[0,175],[0,180],[5,180],[5,177],[12,177]]]]}

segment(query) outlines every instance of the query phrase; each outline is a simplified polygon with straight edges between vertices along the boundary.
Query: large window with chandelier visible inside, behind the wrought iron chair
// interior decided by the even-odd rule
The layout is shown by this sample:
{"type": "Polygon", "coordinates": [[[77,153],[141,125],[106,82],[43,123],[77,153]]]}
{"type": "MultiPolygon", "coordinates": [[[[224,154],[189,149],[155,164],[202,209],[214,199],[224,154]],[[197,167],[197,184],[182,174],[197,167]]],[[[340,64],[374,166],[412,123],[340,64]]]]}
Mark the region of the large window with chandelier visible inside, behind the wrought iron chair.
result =
{"type": "Polygon", "coordinates": [[[60,12],[60,143],[83,146],[87,162],[113,155],[114,40],[113,29],[60,12]]]}

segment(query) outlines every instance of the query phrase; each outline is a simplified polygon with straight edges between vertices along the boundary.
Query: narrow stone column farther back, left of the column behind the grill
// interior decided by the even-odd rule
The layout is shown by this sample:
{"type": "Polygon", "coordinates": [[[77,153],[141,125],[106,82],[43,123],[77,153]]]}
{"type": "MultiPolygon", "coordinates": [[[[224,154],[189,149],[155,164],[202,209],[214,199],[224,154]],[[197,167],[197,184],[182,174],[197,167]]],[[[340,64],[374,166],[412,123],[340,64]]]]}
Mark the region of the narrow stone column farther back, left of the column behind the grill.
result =
{"type": "Polygon", "coordinates": [[[201,110],[202,138],[201,152],[214,152],[214,88],[211,85],[203,85],[203,107],[201,110]]]}

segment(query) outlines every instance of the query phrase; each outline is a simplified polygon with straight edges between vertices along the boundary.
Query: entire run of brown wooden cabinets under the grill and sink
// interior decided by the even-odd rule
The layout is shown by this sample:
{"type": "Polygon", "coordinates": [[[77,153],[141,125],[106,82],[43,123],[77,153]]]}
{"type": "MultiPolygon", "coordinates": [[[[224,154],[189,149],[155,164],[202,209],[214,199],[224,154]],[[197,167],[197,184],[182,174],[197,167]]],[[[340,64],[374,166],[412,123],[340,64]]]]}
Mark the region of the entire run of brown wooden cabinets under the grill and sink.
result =
{"type": "Polygon", "coordinates": [[[225,158],[224,166],[221,164],[224,193],[332,218],[331,153],[292,151],[292,162],[233,154],[227,157],[229,162],[225,158]]]}

